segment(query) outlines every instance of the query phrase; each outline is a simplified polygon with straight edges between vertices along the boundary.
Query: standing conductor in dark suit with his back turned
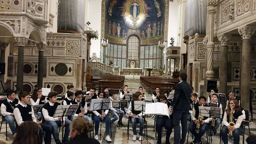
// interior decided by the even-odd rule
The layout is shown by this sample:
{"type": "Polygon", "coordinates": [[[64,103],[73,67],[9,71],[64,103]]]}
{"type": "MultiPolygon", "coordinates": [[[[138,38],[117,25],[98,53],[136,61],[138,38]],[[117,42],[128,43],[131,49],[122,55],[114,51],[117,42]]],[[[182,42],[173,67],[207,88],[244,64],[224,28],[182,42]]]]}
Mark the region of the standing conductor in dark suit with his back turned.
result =
{"type": "Polygon", "coordinates": [[[187,74],[180,73],[180,82],[175,88],[174,98],[170,106],[173,110],[174,144],[184,144],[187,133],[187,117],[190,107],[191,86],[186,82],[187,74]],[[182,138],[180,139],[180,122],[182,126],[182,138]]]}

